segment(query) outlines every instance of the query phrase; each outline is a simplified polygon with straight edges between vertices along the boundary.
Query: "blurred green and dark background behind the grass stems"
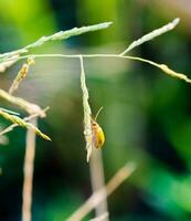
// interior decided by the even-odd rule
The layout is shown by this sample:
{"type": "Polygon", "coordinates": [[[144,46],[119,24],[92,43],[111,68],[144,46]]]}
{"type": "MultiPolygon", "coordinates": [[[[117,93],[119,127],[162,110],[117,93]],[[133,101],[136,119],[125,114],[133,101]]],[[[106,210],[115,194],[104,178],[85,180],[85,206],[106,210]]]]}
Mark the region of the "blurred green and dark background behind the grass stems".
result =
{"type": "MultiPolygon", "coordinates": [[[[47,43],[33,52],[119,53],[135,39],[177,17],[181,23],[174,31],[131,54],[189,74],[189,0],[1,0],[0,51],[60,30],[113,21],[107,30],[47,43]]],[[[1,88],[9,88],[21,65],[18,62],[1,74],[1,88]]],[[[138,164],[137,171],[108,199],[110,220],[191,220],[190,85],[147,64],[119,59],[85,59],[85,70],[93,113],[104,106],[98,122],[106,135],[106,180],[127,161],[138,164]]],[[[17,95],[51,106],[39,124],[52,141],[38,137],[33,221],[65,220],[92,192],[78,60],[36,59],[17,95]]],[[[1,106],[18,110],[3,101],[1,106]]],[[[0,119],[0,125],[9,124],[0,119]]],[[[0,220],[19,221],[25,130],[17,128],[7,138],[9,144],[0,147],[0,220]]]]}

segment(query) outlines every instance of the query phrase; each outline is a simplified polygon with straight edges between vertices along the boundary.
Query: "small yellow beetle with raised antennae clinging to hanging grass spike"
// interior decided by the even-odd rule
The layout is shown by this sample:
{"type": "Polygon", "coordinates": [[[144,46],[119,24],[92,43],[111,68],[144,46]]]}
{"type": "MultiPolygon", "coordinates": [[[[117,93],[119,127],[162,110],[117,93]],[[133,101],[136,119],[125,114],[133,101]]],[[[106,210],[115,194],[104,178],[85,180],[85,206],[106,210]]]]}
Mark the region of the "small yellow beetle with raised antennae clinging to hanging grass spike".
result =
{"type": "Polygon", "coordinates": [[[103,109],[103,107],[99,108],[95,118],[94,119],[92,118],[93,144],[94,144],[95,148],[97,148],[97,149],[102,148],[104,143],[105,143],[104,131],[103,131],[102,127],[96,122],[102,109],[103,109]]]}

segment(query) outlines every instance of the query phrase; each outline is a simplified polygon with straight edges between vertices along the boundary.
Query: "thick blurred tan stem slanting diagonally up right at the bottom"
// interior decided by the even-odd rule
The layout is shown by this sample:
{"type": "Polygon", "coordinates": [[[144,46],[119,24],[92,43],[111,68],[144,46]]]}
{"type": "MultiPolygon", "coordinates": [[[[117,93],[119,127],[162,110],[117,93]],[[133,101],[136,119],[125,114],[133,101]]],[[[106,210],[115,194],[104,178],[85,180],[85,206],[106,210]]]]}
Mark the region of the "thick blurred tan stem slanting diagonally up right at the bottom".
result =
{"type": "Polygon", "coordinates": [[[128,162],[120,168],[117,173],[108,181],[105,188],[94,192],[68,219],[67,221],[79,221],[87,215],[105,197],[110,196],[136,169],[135,162],[128,162]],[[103,194],[103,191],[106,196],[103,194]]]}

